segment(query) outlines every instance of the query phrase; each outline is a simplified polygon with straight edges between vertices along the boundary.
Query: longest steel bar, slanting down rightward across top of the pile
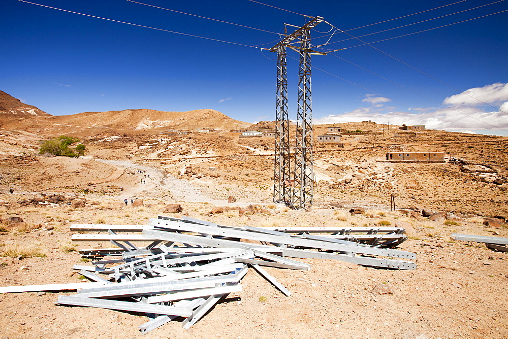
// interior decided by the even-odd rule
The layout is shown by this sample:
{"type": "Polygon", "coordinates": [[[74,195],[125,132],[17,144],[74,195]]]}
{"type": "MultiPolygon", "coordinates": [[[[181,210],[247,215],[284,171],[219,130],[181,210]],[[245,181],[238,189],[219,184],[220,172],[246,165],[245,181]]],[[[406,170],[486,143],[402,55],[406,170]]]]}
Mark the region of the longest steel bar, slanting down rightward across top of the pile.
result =
{"type": "MultiPolygon", "coordinates": [[[[307,248],[317,248],[317,249],[326,249],[332,251],[339,252],[354,252],[360,254],[369,254],[369,255],[380,255],[380,256],[395,256],[400,258],[414,259],[416,255],[411,252],[406,251],[398,251],[398,250],[387,250],[378,248],[375,246],[360,246],[355,243],[348,242],[347,244],[334,244],[325,241],[316,241],[310,239],[302,239],[297,238],[295,236],[278,236],[272,234],[264,234],[264,233],[256,233],[249,232],[243,230],[235,230],[235,229],[221,229],[218,227],[209,227],[202,225],[192,225],[185,223],[177,223],[170,220],[160,220],[160,219],[149,219],[149,225],[157,225],[157,227],[168,227],[172,229],[177,229],[180,231],[191,231],[191,232],[200,232],[200,233],[208,233],[220,236],[230,236],[232,238],[238,239],[250,239],[257,241],[264,241],[268,243],[277,243],[277,244],[286,244],[307,248]]],[[[143,234],[153,234],[151,230],[145,229],[143,230],[143,234]]],[[[245,244],[245,243],[243,243],[245,244]]]]}

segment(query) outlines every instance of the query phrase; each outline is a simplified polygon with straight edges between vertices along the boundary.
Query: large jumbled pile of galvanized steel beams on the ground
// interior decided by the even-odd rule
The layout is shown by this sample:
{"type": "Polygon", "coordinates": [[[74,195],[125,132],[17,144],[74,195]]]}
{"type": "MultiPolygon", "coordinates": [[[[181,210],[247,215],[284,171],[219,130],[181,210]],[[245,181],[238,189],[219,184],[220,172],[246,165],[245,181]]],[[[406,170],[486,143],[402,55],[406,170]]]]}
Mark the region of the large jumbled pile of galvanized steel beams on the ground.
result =
{"type": "Polygon", "coordinates": [[[0,293],[76,289],[76,295],[59,296],[55,303],[141,312],[150,318],[139,326],[146,333],[174,319],[183,319],[183,327],[189,328],[221,298],[242,290],[240,282],[248,267],[291,295],[262,268],[310,269],[309,264],[288,257],[416,268],[414,262],[401,260],[416,259],[414,253],[382,248],[406,239],[397,227],[233,227],[159,216],[147,225],[71,225],[71,230],[108,232],[74,234],[72,240],[117,246],[79,251],[98,259],[93,266],[74,266],[92,283],[0,287],[0,293]],[[139,242],[148,245],[141,247],[139,242]],[[104,260],[105,256],[113,258],[104,260]]]}

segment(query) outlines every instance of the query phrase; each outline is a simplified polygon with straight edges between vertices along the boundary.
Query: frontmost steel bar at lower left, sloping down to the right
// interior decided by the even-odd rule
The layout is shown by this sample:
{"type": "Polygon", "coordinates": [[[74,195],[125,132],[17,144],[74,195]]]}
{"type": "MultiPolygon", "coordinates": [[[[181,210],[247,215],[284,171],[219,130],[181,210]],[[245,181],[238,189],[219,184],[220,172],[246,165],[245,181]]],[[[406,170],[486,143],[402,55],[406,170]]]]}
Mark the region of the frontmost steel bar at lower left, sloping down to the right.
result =
{"type": "Polygon", "coordinates": [[[58,296],[58,299],[55,303],[76,306],[97,307],[101,309],[110,309],[110,310],[167,314],[182,317],[188,317],[192,315],[192,309],[186,307],[153,305],[141,302],[94,299],[71,295],[60,295],[58,296]]]}

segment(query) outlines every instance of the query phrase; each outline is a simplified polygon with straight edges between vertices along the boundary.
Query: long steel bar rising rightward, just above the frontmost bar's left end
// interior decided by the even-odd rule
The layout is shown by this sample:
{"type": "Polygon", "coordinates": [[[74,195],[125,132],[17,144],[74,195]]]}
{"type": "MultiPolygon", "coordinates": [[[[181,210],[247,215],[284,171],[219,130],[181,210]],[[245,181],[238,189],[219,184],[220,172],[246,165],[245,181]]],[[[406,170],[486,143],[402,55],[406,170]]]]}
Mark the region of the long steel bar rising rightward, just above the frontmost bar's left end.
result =
{"type": "MultiPolygon", "coordinates": [[[[165,277],[166,278],[166,277],[165,277]]],[[[216,276],[209,278],[196,278],[190,280],[173,280],[165,282],[150,282],[152,279],[142,280],[143,284],[117,283],[102,285],[103,288],[88,288],[80,290],[78,295],[89,298],[117,297],[117,296],[140,296],[146,294],[168,293],[178,290],[190,290],[196,288],[214,287],[215,284],[238,282],[238,274],[216,276]]]]}

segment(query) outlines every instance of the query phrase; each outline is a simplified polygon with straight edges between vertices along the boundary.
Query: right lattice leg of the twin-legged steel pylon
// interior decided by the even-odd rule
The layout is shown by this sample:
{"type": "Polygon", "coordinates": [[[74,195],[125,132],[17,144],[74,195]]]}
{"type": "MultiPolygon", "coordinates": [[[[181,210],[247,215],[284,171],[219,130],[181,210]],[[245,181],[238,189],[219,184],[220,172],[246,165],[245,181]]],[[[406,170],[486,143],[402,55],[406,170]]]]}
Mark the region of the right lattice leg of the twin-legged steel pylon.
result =
{"type": "Polygon", "coordinates": [[[298,111],[295,148],[295,194],[296,209],[309,208],[314,196],[314,171],[312,156],[312,90],[310,64],[310,29],[302,30],[300,49],[300,71],[298,73],[298,111]]]}

